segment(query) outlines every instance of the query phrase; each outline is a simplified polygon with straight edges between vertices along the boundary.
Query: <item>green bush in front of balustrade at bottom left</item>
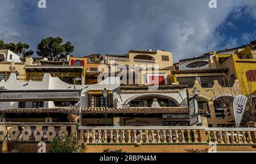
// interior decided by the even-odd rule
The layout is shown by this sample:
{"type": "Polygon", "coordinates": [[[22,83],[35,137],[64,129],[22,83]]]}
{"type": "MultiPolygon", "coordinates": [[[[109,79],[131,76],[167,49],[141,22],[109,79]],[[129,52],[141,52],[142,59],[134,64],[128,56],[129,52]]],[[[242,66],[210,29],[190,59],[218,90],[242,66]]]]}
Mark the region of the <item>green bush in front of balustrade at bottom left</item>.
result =
{"type": "Polygon", "coordinates": [[[49,153],[82,153],[82,145],[72,136],[67,136],[64,140],[62,137],[56,137],[52,143],[49,153]]]}

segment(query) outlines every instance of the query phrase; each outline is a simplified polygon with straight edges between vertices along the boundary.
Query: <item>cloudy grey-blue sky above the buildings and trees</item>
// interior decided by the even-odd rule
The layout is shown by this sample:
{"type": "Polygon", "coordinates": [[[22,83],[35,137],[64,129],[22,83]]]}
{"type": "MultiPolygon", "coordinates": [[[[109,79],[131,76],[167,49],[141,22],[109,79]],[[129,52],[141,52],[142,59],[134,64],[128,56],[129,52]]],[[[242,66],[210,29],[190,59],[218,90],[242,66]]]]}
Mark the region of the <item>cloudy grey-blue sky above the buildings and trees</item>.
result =
{"type": "MultiPolygon", "coordinates": [[[[174,61],[256,40],[256,1],[0,0],[0,39],[27,42],[60,36],[73,55],[128,50],[171,51],[174,61]]],[[[36,53],[35,53],[36,56],[36,53]]]]}

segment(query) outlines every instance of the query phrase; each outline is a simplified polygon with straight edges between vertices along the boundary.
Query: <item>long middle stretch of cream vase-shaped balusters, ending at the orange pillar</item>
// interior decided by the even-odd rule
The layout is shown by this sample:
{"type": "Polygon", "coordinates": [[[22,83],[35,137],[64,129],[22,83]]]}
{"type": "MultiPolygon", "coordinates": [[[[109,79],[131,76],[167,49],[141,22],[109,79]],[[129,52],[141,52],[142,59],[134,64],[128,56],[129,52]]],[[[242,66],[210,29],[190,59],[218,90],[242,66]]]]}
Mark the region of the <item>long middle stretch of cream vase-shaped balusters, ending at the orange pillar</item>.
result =
{"type": "Polygon", "coordinates": [[[203,127],[79,127],[84,143],[198,143],[203,127]]]}

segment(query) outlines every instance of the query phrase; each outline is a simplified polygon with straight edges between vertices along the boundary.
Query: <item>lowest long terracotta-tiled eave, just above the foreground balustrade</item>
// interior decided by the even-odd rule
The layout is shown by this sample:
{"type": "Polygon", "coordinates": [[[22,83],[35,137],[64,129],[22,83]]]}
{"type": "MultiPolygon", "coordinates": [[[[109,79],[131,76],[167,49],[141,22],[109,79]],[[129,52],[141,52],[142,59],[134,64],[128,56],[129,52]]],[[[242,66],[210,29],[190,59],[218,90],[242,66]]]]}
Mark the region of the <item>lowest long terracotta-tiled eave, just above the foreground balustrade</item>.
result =
{"type": "MultiPolygon", "coordinates": [[[[72,109],[69,107],[56,107],[53,109],[7,109],[0,110],[0,113],[71,113],[72,109]]],[[[126,107],[117,109],[115,107],[106,107],[106,112],[123,113],[123,114],[164,114],[164,113],[188,113],[187,107],[126,107]]],[[[81,109],[82,114],[103,114],[105,107],[85,107],[81,109]]],[[[200,110],[200,113],[208,113],[208,111],[200,110]]]]}

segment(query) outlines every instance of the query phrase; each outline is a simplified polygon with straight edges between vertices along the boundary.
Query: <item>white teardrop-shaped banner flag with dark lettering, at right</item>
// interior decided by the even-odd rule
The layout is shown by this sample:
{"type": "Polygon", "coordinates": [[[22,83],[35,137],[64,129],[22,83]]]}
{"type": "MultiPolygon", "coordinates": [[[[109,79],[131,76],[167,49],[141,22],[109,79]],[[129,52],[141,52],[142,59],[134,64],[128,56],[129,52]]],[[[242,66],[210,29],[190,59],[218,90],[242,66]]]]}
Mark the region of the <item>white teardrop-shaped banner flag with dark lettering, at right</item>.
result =
{"type": "Polygon", "coordinates": [[[241,124],[241,120],[243,118],[243,113],[245,112],[247,100],[248,98],[246,96],[243,96],[242,94],[234,98],[233,109],[234,109],[234,118],[235,118],[237,127],[239,127],[241,124]]]}

